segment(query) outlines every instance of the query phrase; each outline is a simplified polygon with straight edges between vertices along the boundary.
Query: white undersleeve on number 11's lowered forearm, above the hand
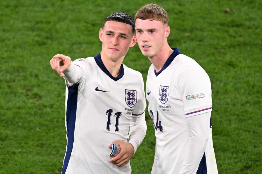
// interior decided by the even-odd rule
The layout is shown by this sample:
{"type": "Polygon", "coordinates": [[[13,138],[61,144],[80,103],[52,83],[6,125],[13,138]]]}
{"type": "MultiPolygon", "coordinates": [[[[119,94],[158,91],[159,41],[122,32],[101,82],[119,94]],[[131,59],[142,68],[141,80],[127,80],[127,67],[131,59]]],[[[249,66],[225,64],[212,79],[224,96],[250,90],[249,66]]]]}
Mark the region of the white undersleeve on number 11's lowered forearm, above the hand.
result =
{"type": "Polygon", "coordinates": [[[129,143],[134,146],[134,153],[146,135],[146,119],[144,114],[141,117],[132,117],[129,129],[129,143]]]}

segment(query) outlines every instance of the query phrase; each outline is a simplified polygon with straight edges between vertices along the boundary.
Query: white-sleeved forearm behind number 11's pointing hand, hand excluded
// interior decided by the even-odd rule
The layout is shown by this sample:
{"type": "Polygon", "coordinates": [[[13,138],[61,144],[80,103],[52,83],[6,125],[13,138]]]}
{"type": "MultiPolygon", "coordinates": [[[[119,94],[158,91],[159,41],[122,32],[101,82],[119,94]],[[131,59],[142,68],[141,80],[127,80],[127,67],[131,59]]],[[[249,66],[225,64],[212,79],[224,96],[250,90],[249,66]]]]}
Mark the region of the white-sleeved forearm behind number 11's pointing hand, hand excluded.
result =
{"type": "Polygon", "coordinates": [[[80,79],[83,77],[84,71],[80,66],[75,65],[73,62],[71,62],[71,65],[67,69],[65,69],[63,73],[65,75],[65,79],[69,83],[75,84],[79,82],[80,79]]]}

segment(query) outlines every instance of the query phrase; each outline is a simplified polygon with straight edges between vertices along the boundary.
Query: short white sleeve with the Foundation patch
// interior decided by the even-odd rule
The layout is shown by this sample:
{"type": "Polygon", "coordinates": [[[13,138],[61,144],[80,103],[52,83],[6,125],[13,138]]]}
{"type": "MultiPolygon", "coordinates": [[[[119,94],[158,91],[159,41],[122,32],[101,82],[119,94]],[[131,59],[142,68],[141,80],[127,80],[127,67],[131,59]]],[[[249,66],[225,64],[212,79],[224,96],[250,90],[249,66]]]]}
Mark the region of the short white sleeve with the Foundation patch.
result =
{"type": "Polygon", "coordinates": [[[181,73],[178,86],[186,117],[212,110],[211,83],[204,70],[190,69],[181,73]]]}

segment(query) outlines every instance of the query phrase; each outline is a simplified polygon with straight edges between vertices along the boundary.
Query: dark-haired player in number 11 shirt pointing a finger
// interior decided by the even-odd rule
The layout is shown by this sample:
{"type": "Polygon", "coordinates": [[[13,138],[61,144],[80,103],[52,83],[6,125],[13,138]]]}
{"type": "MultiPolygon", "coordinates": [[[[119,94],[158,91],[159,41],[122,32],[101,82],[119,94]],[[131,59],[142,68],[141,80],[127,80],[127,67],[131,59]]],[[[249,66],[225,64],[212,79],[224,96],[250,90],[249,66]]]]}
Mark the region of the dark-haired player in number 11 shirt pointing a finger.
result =
{"type": "Polygon", "coordinates": [[[66,83],[68,142],[62,174],[131,173],[129,159],[146,134],[142,75],[122,63],[136,44],[134,34],[134,19],[115,12],[99,30],[98,55],[71,62],[57,54],[50,60],[66,83]],[[121,151],[110,159],[112,142],[121,151]]]}

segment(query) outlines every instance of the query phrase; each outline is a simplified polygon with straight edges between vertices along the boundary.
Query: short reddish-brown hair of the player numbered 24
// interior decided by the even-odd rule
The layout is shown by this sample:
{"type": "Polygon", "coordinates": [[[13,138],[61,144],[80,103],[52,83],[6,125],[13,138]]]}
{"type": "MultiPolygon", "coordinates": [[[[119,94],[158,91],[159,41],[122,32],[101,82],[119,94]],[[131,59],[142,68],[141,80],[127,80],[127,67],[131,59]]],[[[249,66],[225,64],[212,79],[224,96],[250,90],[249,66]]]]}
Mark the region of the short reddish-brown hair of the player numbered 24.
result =
{"type": "Polygon", "coordinates": [[[137,14],[135,15],[135,20],[136,19],[157,20],[161,21],[164,25],[167,25],[169,17],[167,12],[162,7],[151,3],[144,5],[137,11],[137,14]]]}

